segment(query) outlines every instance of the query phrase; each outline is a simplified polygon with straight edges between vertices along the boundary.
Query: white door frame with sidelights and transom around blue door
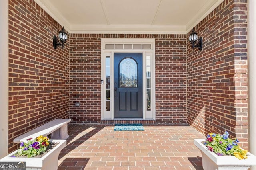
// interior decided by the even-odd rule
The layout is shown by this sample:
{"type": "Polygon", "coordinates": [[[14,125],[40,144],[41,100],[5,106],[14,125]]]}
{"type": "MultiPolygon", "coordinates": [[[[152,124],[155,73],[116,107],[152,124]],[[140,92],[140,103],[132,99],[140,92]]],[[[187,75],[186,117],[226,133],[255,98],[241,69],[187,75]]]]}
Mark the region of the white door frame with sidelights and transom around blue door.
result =
{"type": "Polygon", "coordinates": [[[103,84],[101,84],[101,120],[114,119],[114,53],[143,54],[143,119],[155,120],[155,39],[105,38],[101,39],[101,80],[103,80],[103,84]],[[108,58],[109,62],[107,65],[110,67],[108,71],[106,71],[106,58],[108,58]],[[151,92],[150,98],[147,98],[147,68],[150,68],[151,73],[149,78],[151,80],[150,89],[148,89],[151,92]],[[106,78],[106,72],[110,74],[110,78],[106,78]],[[106,88],[107,79],[110,79],[109,89],[106,88]],[[109,100],[106,100],[106,89],[110,91],[109,100]],[[148,102],[151,104],[150,109],[147,109],[148,102]],[[106,108],[106,103],[108,103],[109,108],[106,108]]]}

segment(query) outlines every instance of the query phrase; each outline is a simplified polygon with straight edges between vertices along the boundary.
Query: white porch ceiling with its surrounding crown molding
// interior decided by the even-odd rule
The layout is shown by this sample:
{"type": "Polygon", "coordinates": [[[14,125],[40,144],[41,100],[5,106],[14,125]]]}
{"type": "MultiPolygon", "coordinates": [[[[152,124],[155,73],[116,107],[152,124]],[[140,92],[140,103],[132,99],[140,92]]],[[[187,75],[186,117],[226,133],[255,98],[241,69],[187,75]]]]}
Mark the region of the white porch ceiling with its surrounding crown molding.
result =
{"type": "Polygon", "coordinates": [[[69,33],[186,34],[223,0],[35,0],[69,33]]]}

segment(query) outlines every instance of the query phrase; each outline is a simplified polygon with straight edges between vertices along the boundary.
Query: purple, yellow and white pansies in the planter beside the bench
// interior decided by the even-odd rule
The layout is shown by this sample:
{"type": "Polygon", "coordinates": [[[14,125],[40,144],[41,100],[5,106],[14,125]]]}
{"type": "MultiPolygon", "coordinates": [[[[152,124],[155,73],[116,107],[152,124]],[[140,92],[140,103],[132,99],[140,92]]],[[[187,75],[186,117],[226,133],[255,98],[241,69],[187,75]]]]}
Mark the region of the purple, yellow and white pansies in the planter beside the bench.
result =
{"type": "Polygon", "coordinates": [[[47,151],[50,147],[51,142],[48,137],[43,137],[42,135],[36,139],[29,138],[25,142],[20,143],[20,148],[18,152],[14,155],[16,156],[27,156],[28,158],[41,155],[47,151]]]}

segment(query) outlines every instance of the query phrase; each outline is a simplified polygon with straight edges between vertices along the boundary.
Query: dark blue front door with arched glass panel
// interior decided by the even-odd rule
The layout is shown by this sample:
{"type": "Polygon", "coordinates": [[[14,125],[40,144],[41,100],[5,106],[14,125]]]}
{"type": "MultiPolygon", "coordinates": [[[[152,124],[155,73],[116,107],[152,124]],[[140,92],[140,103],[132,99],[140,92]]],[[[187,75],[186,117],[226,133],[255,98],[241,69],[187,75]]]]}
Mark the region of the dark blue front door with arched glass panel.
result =
{"type": "Polygon", "coordinates": [[[114,117],[142,118],[142,53],[114,53],[114,117]]]}

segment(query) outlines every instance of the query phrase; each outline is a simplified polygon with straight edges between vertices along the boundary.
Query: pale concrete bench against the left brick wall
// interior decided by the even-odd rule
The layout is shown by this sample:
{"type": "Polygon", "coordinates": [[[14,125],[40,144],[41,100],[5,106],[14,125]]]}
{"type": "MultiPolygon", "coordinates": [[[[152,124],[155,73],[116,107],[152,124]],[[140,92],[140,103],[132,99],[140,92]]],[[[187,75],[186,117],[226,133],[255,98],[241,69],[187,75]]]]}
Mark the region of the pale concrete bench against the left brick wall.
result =
{"type": "Polygon", "coordinates": [[[41,125],[23,135],[16,137],[13,142],[21,143],[28,138],[36,138],[40,135],[47,136],[51,134],[51,139],[67,139],[68,135],[68,123],[71,119],[54,119],[44,125],[41,125]]]}

